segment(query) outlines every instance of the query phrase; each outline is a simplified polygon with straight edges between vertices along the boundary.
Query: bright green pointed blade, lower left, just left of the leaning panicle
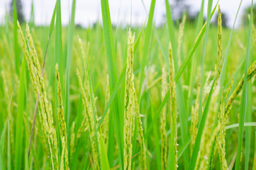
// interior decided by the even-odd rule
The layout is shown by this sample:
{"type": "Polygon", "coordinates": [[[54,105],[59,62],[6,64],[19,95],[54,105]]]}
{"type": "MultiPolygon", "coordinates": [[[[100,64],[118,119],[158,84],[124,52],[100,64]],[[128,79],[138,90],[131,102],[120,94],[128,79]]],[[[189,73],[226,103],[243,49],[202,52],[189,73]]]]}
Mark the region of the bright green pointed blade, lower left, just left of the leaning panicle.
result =
{"type": "Polygon", "coordinates": [[[15,136],[15,169],[21,169],[22,160],[22,145],[23,145],[23,111],[25,103],[25,72],[26,72],[26,61],[23,57],[21,64],[20,84],[18,87],[18,111],[16,116],[16,136],[15,136]]]}

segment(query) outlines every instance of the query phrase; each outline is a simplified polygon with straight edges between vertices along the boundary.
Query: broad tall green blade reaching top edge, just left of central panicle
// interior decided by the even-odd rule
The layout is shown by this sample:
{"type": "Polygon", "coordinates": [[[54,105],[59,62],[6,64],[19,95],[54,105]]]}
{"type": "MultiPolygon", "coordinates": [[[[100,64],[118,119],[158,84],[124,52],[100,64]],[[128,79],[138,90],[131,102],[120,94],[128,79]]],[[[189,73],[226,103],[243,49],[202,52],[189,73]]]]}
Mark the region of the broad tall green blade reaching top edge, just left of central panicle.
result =
{"type": "MultiPolygon", "coordinates": [[[[108,65],[109,89],[110,93],[112,94],[114,86],[118,80],[118,69],[116,63],[115,48],[113,43],[113,33],[111,27],[108,0],[101,0],[101,14],[104,29],[106,59],[108,65]]],[[[113,100],[113,104],[111,105],[112,120],[110,123],[113,123],[115,128],[119,151],[118,161],[120,164],[120,169],[123,169],[123,115],[121,113],[121,97],[120,94],[117,93],[116,97],[113,100]]],[[[111,142],[109,142],[108,144],[108,148],[110,147],[113,147],[113,143],[111,142]]],[[[109,160],[109,162],[112,162],[112,160],[109,160]]]]}

